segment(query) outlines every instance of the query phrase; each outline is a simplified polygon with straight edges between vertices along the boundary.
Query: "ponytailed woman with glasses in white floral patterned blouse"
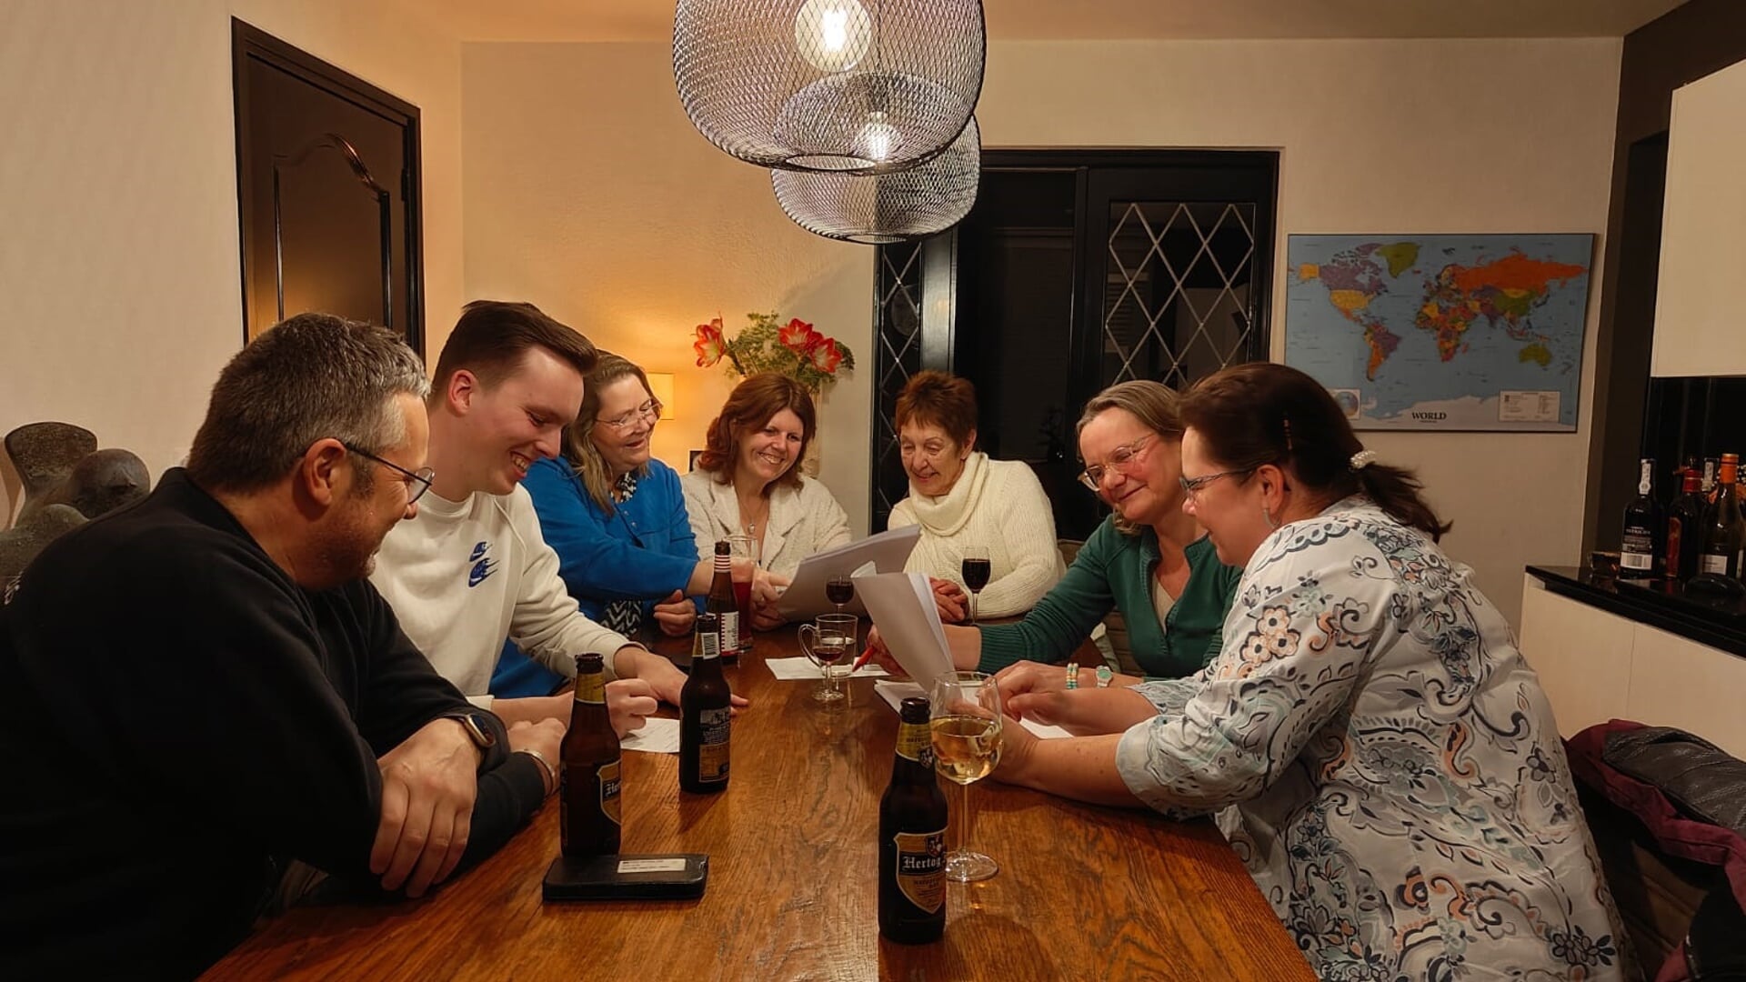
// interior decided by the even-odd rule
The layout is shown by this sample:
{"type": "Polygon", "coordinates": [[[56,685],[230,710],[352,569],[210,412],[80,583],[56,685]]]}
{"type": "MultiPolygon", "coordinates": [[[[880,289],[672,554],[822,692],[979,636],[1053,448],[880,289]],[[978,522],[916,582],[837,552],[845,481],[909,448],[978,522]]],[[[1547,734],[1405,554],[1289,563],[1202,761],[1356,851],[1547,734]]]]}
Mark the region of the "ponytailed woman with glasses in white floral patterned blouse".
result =
{"type": "Polygon", "coordinates": [[[1540,681],[1413,475],[1285,365],[1182,418],[1184,510],[1245,566],[1224,650],[1126,690],[1002,678],[1011,711],[1107,736],[1007,727],[995,776],[1217,813],[1322,979],[1633,977],[1540,681]]]}

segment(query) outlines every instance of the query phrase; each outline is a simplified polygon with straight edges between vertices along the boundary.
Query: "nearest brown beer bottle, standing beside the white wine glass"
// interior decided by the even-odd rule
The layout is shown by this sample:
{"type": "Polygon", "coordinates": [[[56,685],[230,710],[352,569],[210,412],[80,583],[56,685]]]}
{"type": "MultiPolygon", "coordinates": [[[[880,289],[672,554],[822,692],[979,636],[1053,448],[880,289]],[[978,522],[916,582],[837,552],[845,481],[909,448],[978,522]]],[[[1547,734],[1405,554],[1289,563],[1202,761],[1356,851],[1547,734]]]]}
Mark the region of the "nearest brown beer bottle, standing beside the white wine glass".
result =
{"type": "Polygon", "coordinates": [[[899,709],[897,757],[878,800],[878,933],[906,945],[946,930],[946,795],[934,776],[927,699],[899,709]]]}

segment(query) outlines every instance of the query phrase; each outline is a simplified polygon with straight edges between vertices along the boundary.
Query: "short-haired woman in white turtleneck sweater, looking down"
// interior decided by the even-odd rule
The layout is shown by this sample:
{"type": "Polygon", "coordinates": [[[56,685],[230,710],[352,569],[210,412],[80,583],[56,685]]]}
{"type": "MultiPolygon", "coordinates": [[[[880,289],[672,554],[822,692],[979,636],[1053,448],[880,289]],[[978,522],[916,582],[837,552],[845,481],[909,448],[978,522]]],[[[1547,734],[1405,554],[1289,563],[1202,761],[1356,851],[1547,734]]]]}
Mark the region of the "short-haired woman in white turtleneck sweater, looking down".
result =
{"type": "Polygon", "coordinates": [[[964,550],[988,550],[992,575],[978,619],[1030,610],[1062,578],[1055,514],[1020,461],[976,451],[976,388],[946,372],[917,372],[897,397],[897,440],[910,496],[889,528],[922,526],[904,570],[927,573],[943,620],[964,620],[964,550]]]}

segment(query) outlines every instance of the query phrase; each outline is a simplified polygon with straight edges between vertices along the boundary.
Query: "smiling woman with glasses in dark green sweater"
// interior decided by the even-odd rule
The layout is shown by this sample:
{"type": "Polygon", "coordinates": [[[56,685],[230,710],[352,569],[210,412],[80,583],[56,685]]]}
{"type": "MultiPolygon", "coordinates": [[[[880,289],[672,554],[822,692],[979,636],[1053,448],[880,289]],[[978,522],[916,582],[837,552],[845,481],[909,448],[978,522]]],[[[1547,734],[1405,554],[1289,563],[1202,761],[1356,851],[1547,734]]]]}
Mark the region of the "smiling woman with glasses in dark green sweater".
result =
{"type": "MultiPolygon", "coordinates": [[[[1182,421],[1163,383],[1114,384],[1079,418],[1079,481],[1112,508],[1079,549],[1067,575],[1014,624],[946,626],[962,669],[1067,671],[1065,662],[1110,610],[1128,622],[1133,660],[1145,678],[1194,674],[1219,654],[1224,615],[1241,570],[1219,563],[1194,519],[1182,512],[1182,421]],[[1030,662],[1027,662],[1027,659],[1030,662]]],[[[901,671],[870,634],[875,659],[901,671]]],[[[1133,685],[1135,674],[1110,683],[1133,685]]],[[[1091,685],[1088,676],[1086,685],[1091,685]]]]}

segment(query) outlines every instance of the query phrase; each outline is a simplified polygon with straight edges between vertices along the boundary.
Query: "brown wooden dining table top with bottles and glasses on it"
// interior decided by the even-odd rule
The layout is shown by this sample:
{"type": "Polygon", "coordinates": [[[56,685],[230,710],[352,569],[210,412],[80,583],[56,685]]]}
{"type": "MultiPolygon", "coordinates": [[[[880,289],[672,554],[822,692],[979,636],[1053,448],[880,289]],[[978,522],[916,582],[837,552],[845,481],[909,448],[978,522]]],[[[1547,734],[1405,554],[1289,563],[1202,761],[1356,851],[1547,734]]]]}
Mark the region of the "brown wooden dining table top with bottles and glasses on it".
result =
{"type": "MultiPolygon", "coordinates": [[[[838,704],[779,681],[793,629],[728,667],[751,699],[719,795],[679,792],[677,757],[623,757],[623,851],[705,853],[698,900],[541,900],[559,851],[548,799],[498,854],[423,900],[293,909],[206,979],[1313,979],[1210,821],[1070,802],[985,779],[971,839],[1000,863],[946,889],[946,931],[878,935],[878,802],[897,715],[873,680],[838,704]]],[[[959,788],[941,781],[952,809],[959,788]]],[[[953,814],[953,835],[959,828],[953,814]]]]}

